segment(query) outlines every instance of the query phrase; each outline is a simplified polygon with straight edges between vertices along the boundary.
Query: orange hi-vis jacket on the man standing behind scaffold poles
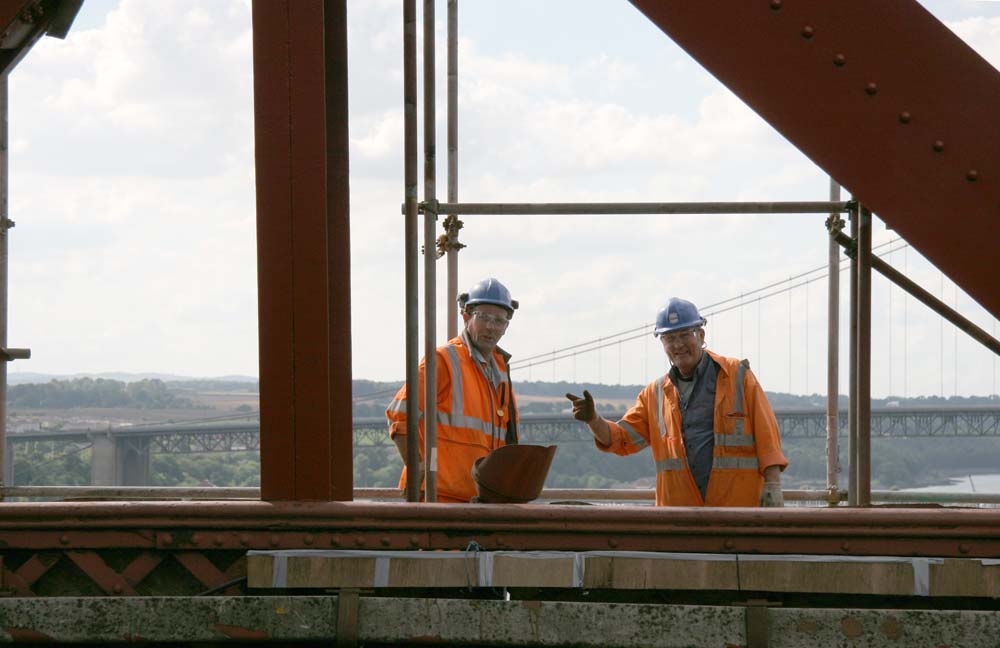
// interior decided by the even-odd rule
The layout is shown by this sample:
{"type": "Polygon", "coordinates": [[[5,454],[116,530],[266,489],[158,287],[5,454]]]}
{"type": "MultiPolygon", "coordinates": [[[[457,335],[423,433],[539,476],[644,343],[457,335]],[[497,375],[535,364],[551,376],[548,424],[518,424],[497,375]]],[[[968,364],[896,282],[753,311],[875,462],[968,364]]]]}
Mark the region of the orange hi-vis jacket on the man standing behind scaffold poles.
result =
{"type": "MultiPolygon", "coordinates": [[[[487,378],[473,358],[463,331],[437,349],[437,489],[439,502],[468,502],[476,495],[472,465],[491,450],[517,442],[518,413],[507,362],[499,347],[493,352],[499,385],[487,378]],[[513,424],[511,423],[513,417],[513,424]],[[508,436],[510,437],[508,439],[508,436]]],[[[420,362],[420,458],[424,459],[424,366],[420,362]]],[[[386,409],[389,436],[406,435],[407,385],[386,409]]],[[[406,467],[399,479],[406,488],[406,467]]]]}

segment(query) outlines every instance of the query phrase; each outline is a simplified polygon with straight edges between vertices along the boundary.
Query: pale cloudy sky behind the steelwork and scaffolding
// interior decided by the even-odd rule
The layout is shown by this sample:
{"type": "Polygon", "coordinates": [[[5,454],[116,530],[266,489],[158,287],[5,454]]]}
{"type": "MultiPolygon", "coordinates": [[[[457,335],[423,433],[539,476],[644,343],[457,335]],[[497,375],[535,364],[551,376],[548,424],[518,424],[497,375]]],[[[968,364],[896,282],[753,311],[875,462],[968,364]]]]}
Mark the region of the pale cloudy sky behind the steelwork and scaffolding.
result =
{"type": "MultiPolygon", "coordinates": [[[[1000,66],[1000,2],[924,4],[1000,66]]],[[[461,200],[827,198],[820,169],[631,5],[582,6],[461,4],[461,200]]],[[[397,380],[401,2],[352,1],[348,17],[353,371],[397,380]]],[[[444,2],[438,19],[443,197],[444,2]]],[[[9,342],[33,356],[12,372],[257,375],[251,42],[249,0],[87,0],[65,41],[43,39],[17,67],[9,342]]],[[[750,358],[769,391],[824,392],[824,219],[466,217],[459,282],[494,275],[520,300],[502,344],[547,357],[515,380],[652,380],[665,361],[640,327],[678,295],[706,307],[709,344],[750,358]],[[710,307],[733,298],[744,306],[710,307]],[[585,343],[603,348],[562,351],[585,343]]],[[[893,241],[877,224],[886,260],[997,330],[893,241]]],[[[844,302],[846,329],[846,288],[844,302]]],[[[997,391],[988,351],[878,277],[874,311],[876,395],[997,391]]]]}

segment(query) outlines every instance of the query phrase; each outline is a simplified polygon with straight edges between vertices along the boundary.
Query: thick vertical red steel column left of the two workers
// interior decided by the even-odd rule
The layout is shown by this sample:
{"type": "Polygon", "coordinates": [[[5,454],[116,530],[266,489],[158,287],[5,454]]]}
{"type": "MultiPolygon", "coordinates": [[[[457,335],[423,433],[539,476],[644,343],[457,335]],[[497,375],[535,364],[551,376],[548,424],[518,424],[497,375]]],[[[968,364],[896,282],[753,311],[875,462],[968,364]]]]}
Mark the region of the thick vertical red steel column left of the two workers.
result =
{"type": "Polygon", "coordinates": [[[253,4],[266,500],[353,488],[346,29],[343,0],[253,4]]]}

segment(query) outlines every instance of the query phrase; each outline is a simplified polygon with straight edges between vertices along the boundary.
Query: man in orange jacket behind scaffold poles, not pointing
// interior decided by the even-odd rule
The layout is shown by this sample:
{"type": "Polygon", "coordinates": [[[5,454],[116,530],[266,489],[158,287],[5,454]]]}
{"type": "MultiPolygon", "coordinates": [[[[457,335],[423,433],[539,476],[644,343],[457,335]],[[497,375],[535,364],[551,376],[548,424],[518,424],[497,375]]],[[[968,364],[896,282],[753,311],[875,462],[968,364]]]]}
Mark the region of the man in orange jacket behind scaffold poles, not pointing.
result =
{"type": "MultiPolygon", "coordinates": [[[[439,502],[468,502],[476,496],[472,466],[496,448],[517,443],[517,403],[511,386],[510,354],[497,344],[507,332],[517,300],[490,277],[458,297],[465,329],[437,349],[437,492],[439,502]]],[[[424,364],[420,362],[420,411],[424,411],[424,364]]],[[[406,462],[407,385],[386,409],[389,436],[406,462]]],[[[423,415],[419,425],[425,461],[423,415]]],[[[423,470],[421,469],[421,476],[423,470]]],[[[406,488],[406,467],[399,487],[406,488]]]]}

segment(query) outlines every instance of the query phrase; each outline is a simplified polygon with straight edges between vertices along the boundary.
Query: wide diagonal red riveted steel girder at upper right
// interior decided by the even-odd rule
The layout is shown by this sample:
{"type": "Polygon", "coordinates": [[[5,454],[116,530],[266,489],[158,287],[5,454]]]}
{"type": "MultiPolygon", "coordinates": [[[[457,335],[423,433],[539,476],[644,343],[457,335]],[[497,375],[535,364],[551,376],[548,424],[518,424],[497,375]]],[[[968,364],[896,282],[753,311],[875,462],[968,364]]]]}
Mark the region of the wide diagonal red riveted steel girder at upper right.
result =
{"type": "Polygon", "coordinates": [[[915,0],[630,0],[1000,317],[1000,73],[915,0]]]}

